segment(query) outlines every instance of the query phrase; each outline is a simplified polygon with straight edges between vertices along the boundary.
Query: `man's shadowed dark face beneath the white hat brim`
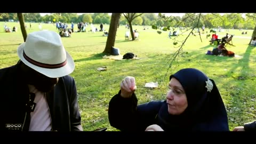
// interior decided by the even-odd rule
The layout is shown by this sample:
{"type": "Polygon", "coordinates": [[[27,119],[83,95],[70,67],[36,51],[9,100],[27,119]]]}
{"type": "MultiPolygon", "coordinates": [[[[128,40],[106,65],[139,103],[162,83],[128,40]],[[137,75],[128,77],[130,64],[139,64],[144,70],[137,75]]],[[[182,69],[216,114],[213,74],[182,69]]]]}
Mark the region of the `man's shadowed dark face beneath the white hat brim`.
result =
{"type": "Polygon", "coordinates": [[[24,63],[22,64],[22,71],[25,75],[25,81],[27,84],[34,85],[38,91],[50,92],[53,90],[54,86],[58,83],[59,78],[50,78],[36,70],[28,67],[24,63]]]}

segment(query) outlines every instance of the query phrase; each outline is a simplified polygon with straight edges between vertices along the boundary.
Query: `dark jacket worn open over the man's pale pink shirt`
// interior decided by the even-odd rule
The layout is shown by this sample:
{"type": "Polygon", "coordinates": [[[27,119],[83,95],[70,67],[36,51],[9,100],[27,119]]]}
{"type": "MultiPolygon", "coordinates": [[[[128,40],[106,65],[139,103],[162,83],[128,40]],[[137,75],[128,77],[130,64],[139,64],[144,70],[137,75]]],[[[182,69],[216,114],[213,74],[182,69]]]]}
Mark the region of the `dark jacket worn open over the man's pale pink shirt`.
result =
{"type": "MultiPolygon", "coordinates": [[[[0,131],[28,131],[29,89],[22,82],[18,65],[0,69],[0,131]]],[[[46,93],[52,131],[82,131],[74,78],[63,76],[54,90],[46,93]]]]}

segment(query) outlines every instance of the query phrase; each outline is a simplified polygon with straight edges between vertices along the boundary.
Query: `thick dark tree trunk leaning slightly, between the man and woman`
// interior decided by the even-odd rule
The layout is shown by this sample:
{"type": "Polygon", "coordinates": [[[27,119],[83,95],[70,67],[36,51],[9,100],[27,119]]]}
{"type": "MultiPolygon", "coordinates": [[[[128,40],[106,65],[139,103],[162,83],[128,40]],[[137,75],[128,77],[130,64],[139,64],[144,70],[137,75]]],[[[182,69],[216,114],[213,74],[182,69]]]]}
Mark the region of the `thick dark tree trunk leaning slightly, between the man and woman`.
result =
{"type": "Polygon", "coordinates": [[[111,15],[107,43],[103,53],[112,54],[112,46],[115,46],[116,31],[117,31],[120,17],[121,17],[121,13],[112,13],[111,15]]]}

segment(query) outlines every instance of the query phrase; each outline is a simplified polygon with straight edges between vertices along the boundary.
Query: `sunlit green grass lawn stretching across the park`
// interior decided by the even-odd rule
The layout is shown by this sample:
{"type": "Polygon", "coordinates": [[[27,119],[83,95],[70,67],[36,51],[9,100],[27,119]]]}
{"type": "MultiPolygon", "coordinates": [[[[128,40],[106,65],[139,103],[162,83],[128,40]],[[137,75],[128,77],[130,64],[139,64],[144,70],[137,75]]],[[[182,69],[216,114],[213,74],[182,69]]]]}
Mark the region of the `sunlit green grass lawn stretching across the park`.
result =
{"type": "MultiPolygon", "coordinates": [[[[18,27],[18,32],[4,33],[4,22],[0,22],[0,68],[17,63],[19,60],[17,47],[23,42],[19,23],[7,22],[7,25],[11,28],[18,27]]],[[[39,30],[38,23],[31,23],[31,29],[29,29],[29,23],[27,26],[27,33],[39,30]]],[[[99,25],[95,26],[99,28],[99,25]]],[[[57,31],[53,24],[43,23],[42,27],[57,31]]],[[[107,30],[108,27],[104,25],[107,30]]],[[[86,28],[87,31],[90,29],[90,27],[86,28]]],[[[226,33],[235,35],[233,38],[235,46],[228,45],[227,49],[241,56],[239,58],[205,55],[207,50],[212,50],[214,47],[209,45],[210,38],[206,38],[204,34],[201,42],[198,35],[190,36],[183,46],[183,57],[174,61],[167,71],[172,54],[178,50],[179,44],[173,45],[174,37],[170,39],[168,31],[159,35],[150,26],[146,30],[142,30],[143,26],[134,26],[133,29],[139,31],[139,39],[125,40],[126,29],[120,26],[117,30],[115,47],[119,48],[122,55],[133,52],[140,58],[138,60],[103,59],[105,54],[102,52],[105,49],[107,37],[102,36],[102,32],[73,33],[70,38],[62,38],[66,50],[75,61],[76,68],[71,76],[75,78],[77,84],[84,131],[92,131],[99,127],[107,127],[107,131],[117,131],[108,122],[108,102],[119,91],[119,83],[125,76],[135,77],[136,94],[139,103],[142,103],[165,99],[169,76],[179,69],[188,67],[202,70],[214,79],[227,108],[230,130],[256,119],[254,86],[256,49],[248,45],[252,30],[244,30],[247,31],[247,35],[242,35],[242,31],[239,30],[217,32],[219,38],[226,33]],[[97,68],[102,66],[106,66],[107,70],[98,71],[97,68]],[[144,87],[147,82],[158,82],[158,87],[155,89],[144,87]]],[[[206,31],[209,30],[206,29],[206,31]]],[[[179,40],[184,39],[187,34],[179,36],[179,40]]]]}

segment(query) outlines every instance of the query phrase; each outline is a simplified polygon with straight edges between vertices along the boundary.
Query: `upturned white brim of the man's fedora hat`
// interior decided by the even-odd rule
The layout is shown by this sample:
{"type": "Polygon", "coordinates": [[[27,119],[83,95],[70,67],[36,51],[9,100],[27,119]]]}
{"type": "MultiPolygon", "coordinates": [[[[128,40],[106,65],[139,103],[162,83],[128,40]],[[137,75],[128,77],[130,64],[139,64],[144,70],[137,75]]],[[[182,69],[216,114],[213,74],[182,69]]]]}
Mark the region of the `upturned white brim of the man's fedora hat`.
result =
{"type": "Polygon", "coordinates": [[[32,63],[28,62],[23,57],[23,50],[25,48],[25,43],[22,43],[21,45],[18,46],[17,53],[18,53],[18,56],[19,56],[20,60],[23,63],[25,63],[25,65],[27,65],[28,67],[33,68],[34,70],[38,71],[39,73],[41,73],[41,74],[43,74],[47,77],[51,77],[51,78],[66,76],[66,75],[71,74],[74,71],[74,69],[75,69],[74,60],[71,57],[71,55],[69,55],[69,53],[67,51],[66,51],[67,63],[63,67],[49,69],[49,68],[42,68],[42,67],[38,67],[36,65],[33,65],[32,63]]]}

